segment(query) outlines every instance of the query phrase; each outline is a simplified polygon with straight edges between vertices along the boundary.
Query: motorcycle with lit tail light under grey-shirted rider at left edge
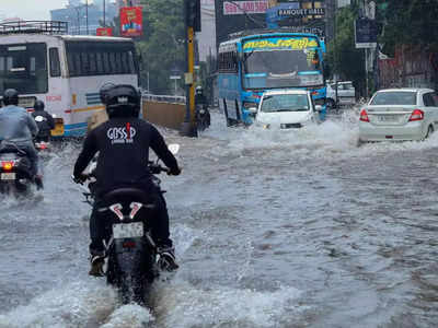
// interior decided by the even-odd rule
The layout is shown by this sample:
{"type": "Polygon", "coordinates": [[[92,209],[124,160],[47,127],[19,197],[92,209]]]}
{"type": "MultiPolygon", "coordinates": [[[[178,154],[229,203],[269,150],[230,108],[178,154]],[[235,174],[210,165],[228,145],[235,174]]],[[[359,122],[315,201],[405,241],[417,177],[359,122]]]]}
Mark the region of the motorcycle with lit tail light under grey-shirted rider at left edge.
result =
{"type": "Polygon", "coordinates": [[[26,192],[34,184],[31,160],[15,144],[2,145],[0,150],[0,191],[2,194],[26,192]]]}

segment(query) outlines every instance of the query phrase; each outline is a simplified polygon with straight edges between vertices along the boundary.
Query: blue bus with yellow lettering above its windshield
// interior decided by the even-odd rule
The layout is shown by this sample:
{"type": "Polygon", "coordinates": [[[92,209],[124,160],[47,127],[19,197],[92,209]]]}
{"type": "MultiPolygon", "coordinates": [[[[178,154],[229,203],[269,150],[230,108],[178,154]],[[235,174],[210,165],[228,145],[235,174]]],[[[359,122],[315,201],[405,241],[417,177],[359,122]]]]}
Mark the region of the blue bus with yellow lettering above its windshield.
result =
{"type": "Polygon", "coordinates": [[[265,32],[223,42],[218,51],[219,108],[227,126],[251,125],[247,108],[264,91],[307,89],[325,119],[325,44],[314,34],[265,32]]]}

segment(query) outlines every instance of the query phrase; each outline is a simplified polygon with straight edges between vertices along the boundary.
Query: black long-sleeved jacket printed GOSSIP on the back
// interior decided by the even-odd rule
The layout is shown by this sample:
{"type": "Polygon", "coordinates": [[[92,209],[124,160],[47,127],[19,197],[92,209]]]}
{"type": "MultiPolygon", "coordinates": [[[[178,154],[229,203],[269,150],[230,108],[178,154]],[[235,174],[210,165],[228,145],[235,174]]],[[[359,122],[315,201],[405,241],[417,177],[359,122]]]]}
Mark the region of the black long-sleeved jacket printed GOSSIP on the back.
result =
{"type": "Polygon", "coordinates": [[[74,176],[87,168],[99,152],[97,195],[127,186],[151,184],[148,169],[149,148],[171,169],[177,169],[175,156],[169,151],[160,132],[139,118],[113,118],[91,130],[74,164],[74,176]]]}

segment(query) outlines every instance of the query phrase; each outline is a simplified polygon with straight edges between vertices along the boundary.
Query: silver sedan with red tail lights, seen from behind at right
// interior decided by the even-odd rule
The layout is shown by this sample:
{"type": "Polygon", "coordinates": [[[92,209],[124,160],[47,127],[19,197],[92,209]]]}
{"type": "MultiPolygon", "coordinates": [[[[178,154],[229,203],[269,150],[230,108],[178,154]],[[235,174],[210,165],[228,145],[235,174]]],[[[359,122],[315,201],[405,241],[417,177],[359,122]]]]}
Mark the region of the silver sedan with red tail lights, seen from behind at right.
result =
{"type": "Polygon", "coordinates": [[[360,110],[359,142],[424,140],[438,122],[438,95],[430,89],[387,89],[360,110]]]}

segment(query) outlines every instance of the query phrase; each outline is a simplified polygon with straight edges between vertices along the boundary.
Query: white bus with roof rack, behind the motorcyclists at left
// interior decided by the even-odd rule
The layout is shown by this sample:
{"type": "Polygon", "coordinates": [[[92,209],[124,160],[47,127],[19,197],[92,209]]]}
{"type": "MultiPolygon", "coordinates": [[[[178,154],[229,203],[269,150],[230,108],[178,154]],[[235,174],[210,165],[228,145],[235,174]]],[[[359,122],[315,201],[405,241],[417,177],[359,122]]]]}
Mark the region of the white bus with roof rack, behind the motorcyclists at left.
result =
{"type": "Polygon", "coordinates": [[[65,22],[0,24],[0,95],[16,89],[30,112],[42,99],[56,117],[53,136],[81,137],[88,118],[104,109],[104,83],[138,87],[138,62],[130,38],[65,32],[65,22]]]}

